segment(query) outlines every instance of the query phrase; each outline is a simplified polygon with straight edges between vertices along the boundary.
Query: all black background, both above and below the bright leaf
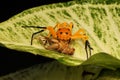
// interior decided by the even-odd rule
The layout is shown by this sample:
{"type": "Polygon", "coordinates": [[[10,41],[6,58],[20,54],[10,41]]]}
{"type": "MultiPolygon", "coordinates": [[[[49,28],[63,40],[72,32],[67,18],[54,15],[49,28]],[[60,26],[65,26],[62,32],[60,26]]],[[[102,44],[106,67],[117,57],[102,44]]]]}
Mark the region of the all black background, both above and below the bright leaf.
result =
{"type": "MultiPolygon", "coordinates": [[[[0,22],[32,7],[66,1],[70,0],[1,0],[0,22]]],[[[53,59],[0,47],[0,76],[49,61],[53,59]]]]}

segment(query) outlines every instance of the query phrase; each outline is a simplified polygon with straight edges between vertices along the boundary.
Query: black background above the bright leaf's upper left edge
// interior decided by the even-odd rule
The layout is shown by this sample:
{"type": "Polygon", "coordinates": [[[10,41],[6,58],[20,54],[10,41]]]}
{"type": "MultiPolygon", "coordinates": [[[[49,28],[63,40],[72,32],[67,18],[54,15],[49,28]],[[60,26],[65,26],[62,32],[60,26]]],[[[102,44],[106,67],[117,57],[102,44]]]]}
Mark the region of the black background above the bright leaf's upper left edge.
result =
{"type": "Polygon", "coordinates": [[[0,22],[7,20],[11,16],[32,7],[67,2],[70,0],[1,0],[0,1],[0,22]]]}

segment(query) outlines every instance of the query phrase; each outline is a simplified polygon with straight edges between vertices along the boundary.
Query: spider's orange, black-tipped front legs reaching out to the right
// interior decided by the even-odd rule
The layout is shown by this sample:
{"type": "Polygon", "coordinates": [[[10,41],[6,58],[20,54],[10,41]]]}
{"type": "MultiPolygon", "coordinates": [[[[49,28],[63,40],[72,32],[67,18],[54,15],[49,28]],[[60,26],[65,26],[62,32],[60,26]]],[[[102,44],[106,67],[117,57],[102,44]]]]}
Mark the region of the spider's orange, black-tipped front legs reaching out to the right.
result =
{"type": "Polygon", "coordinates": [[[91,50],[93,50],[93,48],[90,46],[90,43],[88,41],[88,36],[85,33],[84,29],[80,29],[78,30],[72,37],[71,39],[82,39],[85,43],[85,51],[86,51],[86,55],[87,55],[87,59],[88,59],[88,48],[89,48],[89,54],[91,56],[91,50]]]}

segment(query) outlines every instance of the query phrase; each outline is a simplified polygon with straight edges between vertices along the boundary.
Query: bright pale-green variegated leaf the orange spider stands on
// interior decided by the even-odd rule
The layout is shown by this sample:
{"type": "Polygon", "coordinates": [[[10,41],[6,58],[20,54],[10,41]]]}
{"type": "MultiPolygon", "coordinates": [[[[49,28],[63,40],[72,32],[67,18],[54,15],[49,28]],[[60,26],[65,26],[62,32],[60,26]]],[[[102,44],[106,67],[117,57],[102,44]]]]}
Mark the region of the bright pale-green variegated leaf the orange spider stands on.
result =
{"type": "MultiPolygon", "coordinates": [[[[38,6],[25,10],[0,23],[0,46],[30,52],[35,55],[42,55],[56,59],[66,65],[77,66],[86,60],[84,43],[81,40],[72,42],[71,46],[75,48],[75,53],[73,56],[68,56],[56,51],[44,49],[42,44],[37,42],[37,40],[34,40],[34,44],[30,45],[31,35],[39,31],[39,29],[22,27],[54,27],[58,22],[73,22],[73,34],[80,28],[86,30],[91,46],[94,48],[92,55],[105,52],[120,59],[119,12],[120,6],[118,4],[106,5],[88,3],[81,5],[77,4],[76,1],[71,1],[68,3],[38,6]]],[[[41,33],[41,35],[46,35],[46,33],[47,32],[41,33]]],[[[36,38],[38,38],[38,36],[36,36],[36,38]]],[[[102,58],[104,59],[104,57],[102,58]]],[[[99,57],[97,61],[100,63],[102,58],[99,57]]],[[[96,62],[96,64],[98,63],[96,62]]],[[[112,64],[113,63],[111,63],[111,65],[112,64]]],[[[104,66],[106,65],[107,64],[104,66]]]]}

